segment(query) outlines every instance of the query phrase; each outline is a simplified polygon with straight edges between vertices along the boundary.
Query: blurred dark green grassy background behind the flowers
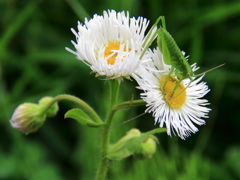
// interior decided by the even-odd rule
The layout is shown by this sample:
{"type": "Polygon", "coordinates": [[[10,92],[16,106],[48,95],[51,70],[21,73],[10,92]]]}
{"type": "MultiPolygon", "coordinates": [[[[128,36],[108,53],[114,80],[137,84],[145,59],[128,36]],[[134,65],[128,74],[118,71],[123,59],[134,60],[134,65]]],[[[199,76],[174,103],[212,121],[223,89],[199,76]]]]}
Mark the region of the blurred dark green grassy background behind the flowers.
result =
{"type": "MultiPolygon", "coordinates": [[[[60,102],[57,117],[25,136],[9,119],[23,102],[62,93],[87,101],[101,116],[107,104],[106,83],[64,48],[73,49],[70,28],[103,10],[128,10],[151,25],[166,17],[167,27],[190,62],[201,70],[225,66],[204,77],[211,88],[207,124],[185,141],[159,135],[152,159],[134,157],[114,162],[109,179],[195,180],[240,179],[240,1],[239,0],[1,0],[0,1],[0,179],[89,180],[96,172],[99,134],[64,113],[72,106],[60,102]]],[[[123,100],[140,91],[124,81],[123,100]]],[[[131,108],[117,114],[115,125],[144,111],[131,108]]],[[[112,129],[117,141],[131,127],[148,131],[150,114],[112,129]]]]}

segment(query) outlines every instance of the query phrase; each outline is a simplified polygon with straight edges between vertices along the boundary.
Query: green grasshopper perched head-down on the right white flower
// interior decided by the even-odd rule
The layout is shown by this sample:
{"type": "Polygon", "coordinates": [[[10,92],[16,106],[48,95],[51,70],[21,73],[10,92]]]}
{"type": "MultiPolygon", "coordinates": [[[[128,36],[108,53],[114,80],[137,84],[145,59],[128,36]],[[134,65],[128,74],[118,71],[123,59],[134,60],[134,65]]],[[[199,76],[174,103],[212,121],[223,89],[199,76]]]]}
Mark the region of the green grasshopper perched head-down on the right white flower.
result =
{"type": "Polygon", "coordinates": [[[172,66],[169,72],[168,78],[164,83],[164,86],[166,85],[168,79],[170,78],[173,72],[178,78],[178,83],[174,87],[172,94],[174,94],[174,91],[177,89],[177,87],[182,82],[182,80],[190,79],[192,82],[194,77],[199,77],[209,71],[212,71],[224,65],[224,64],[219,65],[201,74],[195,75],[194,72],[192,71],[191,66],[188,63],[187,58],[183,55],[183,53],[181,52],[180,48],[177,46],[177,43],[175,42],[171,34],[166,30],[166,23],[165,23],[164,16],[160,16],[160,20],[162,22],[162,26],[158,29],[157,44],[163,54],[164,62],[172,66]]]}

